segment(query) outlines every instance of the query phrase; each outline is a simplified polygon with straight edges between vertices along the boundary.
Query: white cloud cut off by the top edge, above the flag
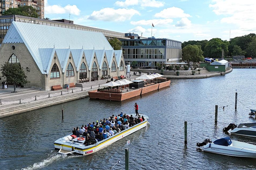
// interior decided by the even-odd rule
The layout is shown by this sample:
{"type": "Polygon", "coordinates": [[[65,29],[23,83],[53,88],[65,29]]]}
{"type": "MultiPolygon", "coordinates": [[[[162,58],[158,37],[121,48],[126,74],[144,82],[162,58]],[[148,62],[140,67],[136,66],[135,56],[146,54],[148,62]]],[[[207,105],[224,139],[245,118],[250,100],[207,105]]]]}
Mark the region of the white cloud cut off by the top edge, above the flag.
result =
{"type": "Polygon", "coordinates": [[[156,0],[125,0],[125,1],[117,1],[115,5],[121,7],[127,7],[132,5],[139,5],[142,7],[162,7],[164,6],[164,2],[156,1],[156,0]]]}

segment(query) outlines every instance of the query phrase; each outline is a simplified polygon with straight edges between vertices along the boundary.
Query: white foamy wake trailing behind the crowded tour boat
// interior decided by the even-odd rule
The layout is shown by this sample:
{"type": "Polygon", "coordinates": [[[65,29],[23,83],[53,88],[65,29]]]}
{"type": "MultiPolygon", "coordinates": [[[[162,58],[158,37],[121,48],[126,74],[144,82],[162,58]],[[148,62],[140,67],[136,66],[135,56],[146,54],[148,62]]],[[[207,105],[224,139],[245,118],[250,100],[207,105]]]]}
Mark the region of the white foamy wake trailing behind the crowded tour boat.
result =
{"type": "Polygon", "coordinates": [[[42,160],[41,162],[30,165],[26,168],[22,168],[21,170],[39,169],[39,168],[49,166],[53,162],[67,159],[67,158],[73,158],[73,157],[80,157],[80,155],[67,156],[67,155],[62,155],[62,154],[57,154],[57,153],[50,154],[49,158],[46,158],[46,159],[42,160]]]}

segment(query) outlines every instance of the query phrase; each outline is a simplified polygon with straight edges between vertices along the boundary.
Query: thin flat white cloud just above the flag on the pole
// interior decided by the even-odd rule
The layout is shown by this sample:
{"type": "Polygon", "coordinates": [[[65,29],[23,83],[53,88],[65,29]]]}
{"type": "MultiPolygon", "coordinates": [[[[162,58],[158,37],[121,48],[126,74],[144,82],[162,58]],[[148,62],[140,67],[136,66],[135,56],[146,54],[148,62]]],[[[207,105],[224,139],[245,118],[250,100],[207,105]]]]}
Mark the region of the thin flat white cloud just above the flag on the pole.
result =
{"type": "Polygon", "coordinates": [[[153,23],[155,26],[159,25],[163,27],[164,25],[172,23],[172,19],[159,19],[159,20],[140,20],[140,21],[131,21],[132,25],[148,25],[151,27],[151,24],[153,23]]]}

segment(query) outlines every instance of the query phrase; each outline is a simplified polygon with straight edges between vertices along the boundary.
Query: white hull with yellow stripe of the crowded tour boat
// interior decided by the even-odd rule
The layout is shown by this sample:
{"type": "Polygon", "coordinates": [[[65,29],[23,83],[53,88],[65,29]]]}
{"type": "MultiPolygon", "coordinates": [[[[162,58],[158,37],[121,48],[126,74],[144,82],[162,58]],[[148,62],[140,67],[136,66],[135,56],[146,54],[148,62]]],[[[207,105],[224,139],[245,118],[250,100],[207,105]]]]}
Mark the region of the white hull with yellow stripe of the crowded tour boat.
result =
{"type": "MultiPolygon", "coordinates": [[[[137,118],[134,114],[132,114],[134,118],[137,118]]],[[[135,124],[134,126],[131,126],[119,133],[114,134],[113,136],[108,137],[107,139],[97,141],[93,145],[85,146],[85,138],[75,138],[73,139],[70,135],[67,135],[63,138],[60,138],[54,142],[55,149],[59,150],[60,154],[81,154],[81,155],[89,155],[93,154],[94,152],[97,152],[100,149],[103,149],[107,147],[108,145],[111,145],[112,143],[118,141],[119,139],[123,139],[129,134],[132,134],[133,132],[136,132],[142,128],[145,128],[148,124],[148,116],[146,115],[140,115],[145,118],[145,121],[140,122],[138,124],[135,124]]]]}

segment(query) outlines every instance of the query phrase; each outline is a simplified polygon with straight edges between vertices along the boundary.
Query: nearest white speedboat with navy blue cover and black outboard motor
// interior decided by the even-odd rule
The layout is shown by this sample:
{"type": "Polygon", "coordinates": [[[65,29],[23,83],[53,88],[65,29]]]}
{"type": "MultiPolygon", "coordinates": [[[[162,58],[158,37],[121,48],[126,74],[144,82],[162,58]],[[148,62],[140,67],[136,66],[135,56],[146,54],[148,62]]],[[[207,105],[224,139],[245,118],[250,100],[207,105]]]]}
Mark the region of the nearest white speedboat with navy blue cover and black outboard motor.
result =
{"type": "Polygon", "coordinates": [[[217,139],[212,143],[207,143],[203,150],[227,156],[256,158],[255,145],[235,140],[231,141],[229,137],[217,139]]]}

